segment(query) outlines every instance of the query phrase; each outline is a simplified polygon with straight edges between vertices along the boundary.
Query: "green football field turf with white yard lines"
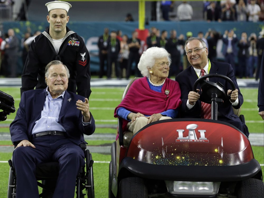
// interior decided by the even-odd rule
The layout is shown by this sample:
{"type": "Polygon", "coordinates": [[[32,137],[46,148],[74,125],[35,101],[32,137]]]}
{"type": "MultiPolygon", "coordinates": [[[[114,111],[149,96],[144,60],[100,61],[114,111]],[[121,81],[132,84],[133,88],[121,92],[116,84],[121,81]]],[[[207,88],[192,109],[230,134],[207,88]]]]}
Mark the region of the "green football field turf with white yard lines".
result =
{"type": "MultiPolygon", "coordinates": [[[[114,118],[114,109],[120,103],[125,87],[92,87],[92,94],[89,98],[91,113],[93,114],[96,125],[95,133],[107,135],[115,134],[117,119],[114,118]],[[104,128],[104,126],[111,128],[104,128]],[[112,127],[114,126],[114,127],[112,127]]],[[[20,102],[20,87],[0,87],[0,90],[13,96],[15,107],[18,108],[20,102]]],[[[257,88],[241,88],[244,96],[241,114],[245,116],[246,124],[250,133],[264,133],[264,122],[258,115],[257,107],[257,88]]],[[[0,133],[9,132],[8,125],[14,119],[15,113],[9,115],[6,121],[0,123],[0,133]]],[[[86,140],[89,146],[110,146],[114,140],[86,140]]],[[[11,140],[0,141],[0,149],[3,145],[12,145],[11,140]]],[[[252,146],[254,156],[259,161],[263,171],[264,147],[252,146]]],[[[1,150],[0,150],[1,151],[1,150]]],[[[109,152],[109,151],[107,151],[109,152]]],[[[107,153],[106,152],[106,153],[107,153]]],[[[12,152],[2,152],[0,155],[0,197],[6,197],[9,166],[7,160],[11,159],[12,152]]],[[[92,153],[95,182],[95,197],[108,197],[108,167],[111,156],[109,154],[92,153]]]]}

